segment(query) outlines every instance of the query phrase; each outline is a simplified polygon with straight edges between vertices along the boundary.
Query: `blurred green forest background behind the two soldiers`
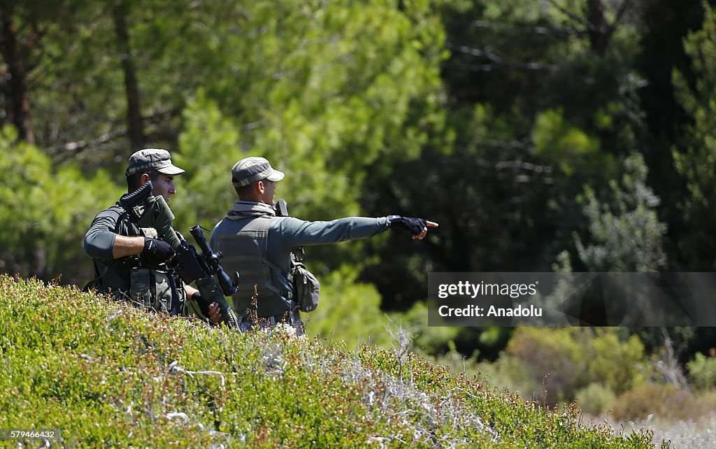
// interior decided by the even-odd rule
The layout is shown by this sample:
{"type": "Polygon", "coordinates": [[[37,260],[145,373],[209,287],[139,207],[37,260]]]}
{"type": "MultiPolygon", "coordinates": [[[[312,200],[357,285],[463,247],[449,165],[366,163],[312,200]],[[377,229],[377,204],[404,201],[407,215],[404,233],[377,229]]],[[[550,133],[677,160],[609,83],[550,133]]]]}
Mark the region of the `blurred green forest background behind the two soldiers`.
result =
{"type": "Polygon", "coordinates": [[[523,392],[551,373],[551,403],[715,388],[715,329],[427,328],[422,302],[430,271],[716,269],[708,2],[1,0],[0,51],[0,271],[91,279],[137,149],[187,170],[180,231],[263,155],[299,218],[440,223],[309,248],[311,332],[387,344],[392,320],[523,392]]]}

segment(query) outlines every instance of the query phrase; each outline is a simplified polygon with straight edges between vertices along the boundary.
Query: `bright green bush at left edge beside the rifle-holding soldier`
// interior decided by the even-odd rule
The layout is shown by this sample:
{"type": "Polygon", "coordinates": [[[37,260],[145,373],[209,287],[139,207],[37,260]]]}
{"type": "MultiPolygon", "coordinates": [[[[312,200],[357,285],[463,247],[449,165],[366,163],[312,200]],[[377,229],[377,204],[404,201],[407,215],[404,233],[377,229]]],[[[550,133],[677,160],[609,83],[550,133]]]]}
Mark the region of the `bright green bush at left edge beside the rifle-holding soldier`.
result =
{"type": "Polygon", "coordinates": [[[0,131],[0,270],[84,284],[93,276],[82,251],[84,232],[97,204],[109,206],[120,190],[102,171],[89,177],[74,165],[54,168],[47,155],[16,137],[13,127],[0,131]]]}

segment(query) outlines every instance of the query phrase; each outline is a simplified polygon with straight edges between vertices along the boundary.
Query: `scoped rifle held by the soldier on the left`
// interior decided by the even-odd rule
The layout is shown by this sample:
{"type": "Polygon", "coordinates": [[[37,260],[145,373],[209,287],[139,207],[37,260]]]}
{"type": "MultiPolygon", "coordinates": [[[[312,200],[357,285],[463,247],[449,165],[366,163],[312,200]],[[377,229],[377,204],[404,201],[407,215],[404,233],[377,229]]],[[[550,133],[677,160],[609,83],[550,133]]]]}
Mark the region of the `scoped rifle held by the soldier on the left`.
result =
{"type": "MultiPolygon", "coordinates": [[[[208,304],[216,302],[221,312],[221,322],[230,328],[238,327],[238,318],[225,297],[236,293],[238,287],[223,271],[219,263],[221,252],[217,254],[211,251],[200,226],[193,226],[190,232],[200,246],[202,254],[198,254],[193,246],[174,231],[172,228],[174,214],[162,195],[152,195],[151,181],[147,181],[132,193],[122,195],[120,206],[127,211],[137,227],[155,228],[159,237],[174,248],[176,256],[167,266],[178,273],[185,284],[196,282],[201,295],[201,301],[198,303],[203,314],[208,317],[208,304]],[[135,207],[140,205],[144,205],[141,216],[135,210],[135,207]],[[213,276],[217,277],[218,282],[213,276]]],[[[236,280],[238,281],[238,273],[236,273],[236,280]]]]}

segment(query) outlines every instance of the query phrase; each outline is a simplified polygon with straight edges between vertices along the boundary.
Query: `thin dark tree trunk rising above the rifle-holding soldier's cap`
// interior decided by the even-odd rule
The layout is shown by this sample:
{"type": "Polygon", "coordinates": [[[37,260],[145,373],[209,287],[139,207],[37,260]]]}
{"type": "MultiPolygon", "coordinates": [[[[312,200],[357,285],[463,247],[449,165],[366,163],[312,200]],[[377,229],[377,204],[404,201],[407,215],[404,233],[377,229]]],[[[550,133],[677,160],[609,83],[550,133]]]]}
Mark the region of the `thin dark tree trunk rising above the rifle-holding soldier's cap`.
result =
{"type": "Polygon", "coordinates": [[[114,8],[115,31],[117,32],[117,43],[122,55],[122,70],[125,74],[125,91],[127,92],[127,130],[130,143],[134,150],[144,148],[146,139],[144,135],[144,124],[142,122],[142,109],[140,107],[140,94],[137,85],[137,72],[132,61],[132,49],[130,47],[130,35],[127,32],[127,4],[120,1],[114,8]]]}

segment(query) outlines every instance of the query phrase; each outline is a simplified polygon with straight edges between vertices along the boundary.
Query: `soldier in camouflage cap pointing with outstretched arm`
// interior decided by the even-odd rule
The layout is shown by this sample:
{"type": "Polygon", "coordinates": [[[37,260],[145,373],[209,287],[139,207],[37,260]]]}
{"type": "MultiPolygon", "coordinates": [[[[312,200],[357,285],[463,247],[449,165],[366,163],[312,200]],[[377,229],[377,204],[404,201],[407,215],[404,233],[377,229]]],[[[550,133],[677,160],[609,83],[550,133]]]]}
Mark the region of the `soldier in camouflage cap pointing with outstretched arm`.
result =
{"type": "Polygon", "coordinates": [[[256,285],[255,304],[252,304],[253,288],[238,289],[232,297],[239,328],[243,330],[251,329],[253,324],[272,326],[285,322],[303,332],[298,309],[312,310],[315,305],[307,308],[297,301],[301,296],[294,283],[293,268],[299,260],[297,248],[366,238],[389,228],[402,229],[413,238],[422,239],[427,228],[437,227],[437,223],[422,218],[400,216],[333,221],[277,216],[274,190],[282,179],[284,173],[271,167],[265,158],[239,160],[231,168],[231,182],[238,200],[211,233],[211,248],[226,256],[224,269],[241,273],[243,285],[256,285]]]}

